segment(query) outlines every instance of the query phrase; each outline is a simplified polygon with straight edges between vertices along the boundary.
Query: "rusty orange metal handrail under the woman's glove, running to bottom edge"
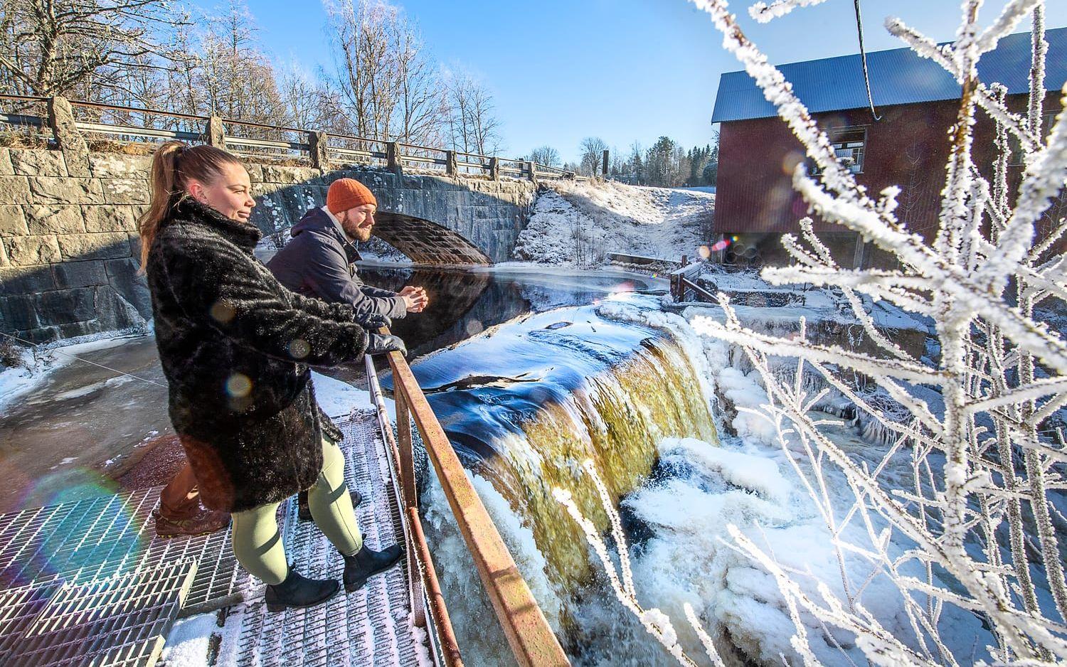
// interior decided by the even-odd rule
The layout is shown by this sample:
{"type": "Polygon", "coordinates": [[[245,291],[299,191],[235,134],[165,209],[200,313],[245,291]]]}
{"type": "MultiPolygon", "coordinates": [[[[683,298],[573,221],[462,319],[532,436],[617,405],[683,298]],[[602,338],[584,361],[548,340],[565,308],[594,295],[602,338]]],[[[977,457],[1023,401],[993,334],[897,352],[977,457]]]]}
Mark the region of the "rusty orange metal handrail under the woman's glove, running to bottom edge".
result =
{"type": "Polygon", "coordinates": [[[496,524],[478,497],[418,386],[411,366],[399,352],[389,352],[388,362],[393,370],[393,398],[401,457],[399,467],[404,493],[408,497],[415,497],[410,415],[423,436],[430,462],[515,660],[523,667],[570,665],[526,579],[515,567],[496,524]]]}

